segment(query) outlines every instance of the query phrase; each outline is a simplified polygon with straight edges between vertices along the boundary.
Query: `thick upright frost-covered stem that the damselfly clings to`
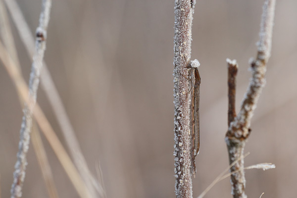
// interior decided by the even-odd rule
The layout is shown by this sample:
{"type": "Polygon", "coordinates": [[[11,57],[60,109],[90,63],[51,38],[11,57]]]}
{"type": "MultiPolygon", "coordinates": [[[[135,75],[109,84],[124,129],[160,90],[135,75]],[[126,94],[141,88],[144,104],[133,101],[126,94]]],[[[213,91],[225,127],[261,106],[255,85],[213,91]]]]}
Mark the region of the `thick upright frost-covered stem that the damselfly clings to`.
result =
{"type": "Polygon", "coordinates": [[[175,193],[192,198],[191,132],[188,68],[191,58],[194,0],[175,0],[174,35],[174,132],[175,193]]]}

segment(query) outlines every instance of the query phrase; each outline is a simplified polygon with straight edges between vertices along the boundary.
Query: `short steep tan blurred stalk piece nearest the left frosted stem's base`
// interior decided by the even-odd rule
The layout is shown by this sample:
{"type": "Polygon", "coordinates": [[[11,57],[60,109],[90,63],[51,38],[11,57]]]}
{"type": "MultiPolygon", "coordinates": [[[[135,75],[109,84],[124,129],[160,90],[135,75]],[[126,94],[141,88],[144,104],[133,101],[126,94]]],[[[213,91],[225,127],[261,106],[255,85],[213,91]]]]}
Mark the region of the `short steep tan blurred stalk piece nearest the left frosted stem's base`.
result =
{"type": "Polygon", "coordinates": [[[39,166],[41,167],[42,175],[49,193],[49,198],[58,198],[59,196],[52,178],[52,172],[49,165],[47,153],[42,143],[39,129],[35,121],[33,121],[32,124],[32,144],[39,162],[39,166]]]}

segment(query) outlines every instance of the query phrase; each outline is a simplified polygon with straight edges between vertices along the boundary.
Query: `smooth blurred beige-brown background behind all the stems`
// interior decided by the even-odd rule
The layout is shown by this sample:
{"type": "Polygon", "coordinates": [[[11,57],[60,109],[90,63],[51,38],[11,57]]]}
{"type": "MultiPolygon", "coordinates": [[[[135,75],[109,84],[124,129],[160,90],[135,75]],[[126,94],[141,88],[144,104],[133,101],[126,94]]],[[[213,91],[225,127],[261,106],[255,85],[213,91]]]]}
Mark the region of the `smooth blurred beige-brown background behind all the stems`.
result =
{"type": "MultiPolygon", "coordinates": [[[[228,166],[226,58],[237,59],[237,110],[250,78],[264,0],[197,0],[192,59],[201,63],[200,154],[193,179],[197,197],[228,166]]],[[[32,32],[41,2],[18,0],[32,32]]],[[[271,162],[276,169],[247,170],[247,195],[293,198],[297,184],[297,1],[276,4],[267,84],[246,145],[245,165],[271,162]]],[[[10,20],[11,21],[11,20],[10,20]]],[[[31,59],[12,24],[22,72],[31,59]]],[[[92,173],[102,169],[108,198],[166,198],[174,192],[174,0],[53,0],[45,61],[92,173]]],[[[0,63],[2,65],[2,63],[0,63]]],[[[37,101],[65,145],[49,101],[37,101]]],[[[22,109],[0,67],[0,187],[10,196],[22,109]]],[[[72,184],[42,135],[60,198],[76,198],[72,184]]],[[[48,197],[30,144],[24,198],[48,197]]],[[[231,197],[229,179],[205,198],[231,197]]]]}

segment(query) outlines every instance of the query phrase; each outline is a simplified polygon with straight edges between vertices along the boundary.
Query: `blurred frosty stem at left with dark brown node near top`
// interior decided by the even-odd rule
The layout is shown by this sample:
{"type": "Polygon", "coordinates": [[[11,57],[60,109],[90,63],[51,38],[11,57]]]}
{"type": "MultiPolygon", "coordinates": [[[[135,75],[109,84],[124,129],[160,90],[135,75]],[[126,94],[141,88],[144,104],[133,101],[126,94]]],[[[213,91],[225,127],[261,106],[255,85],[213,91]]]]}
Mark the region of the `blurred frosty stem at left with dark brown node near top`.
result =
{"type": "Polygon", "coordinates": [[[40,71],[44,52],[46,49],[47,28],[49,24],[49,12],[51,0],[43,0],[42,11],[39,18],[39,27],[36,30],[35,53],[29,79],[30,103],[25,104],[24,116],[20,130],[19,150],[17,153],[17,162],[13,173],[13,183],[11,186],[11,198],[20,198],[22,196],[22,186],[25,179],[25,170],[27,165],[26,155],[30,143],[30,131],[32,128],[32,111],[36,103],[37,89],[39,85],[40,71]]]}

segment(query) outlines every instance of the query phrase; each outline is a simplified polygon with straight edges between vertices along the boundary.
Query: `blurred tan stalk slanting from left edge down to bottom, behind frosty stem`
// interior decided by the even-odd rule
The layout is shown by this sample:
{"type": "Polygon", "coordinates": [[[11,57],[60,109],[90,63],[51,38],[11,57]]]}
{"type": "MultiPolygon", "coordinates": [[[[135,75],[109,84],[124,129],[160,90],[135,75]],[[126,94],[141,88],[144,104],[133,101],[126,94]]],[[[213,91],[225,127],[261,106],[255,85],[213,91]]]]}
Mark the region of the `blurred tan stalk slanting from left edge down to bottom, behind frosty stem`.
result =
{"type": "MultiPolygon", "coordinates": [[[[25,104],[28,105],[32,103],[33,99],[31,95],[29,95],[28,97],[29,88],[26,85],[24,78],[20,74],[19,70],[17,69],[14,61],[12,60],[8,52],[2,46],[1,42],[0,42],[0,59],[3,62],[3,65],[7,70],[10,78],[13,80],[13,83],[15,84],[17,92],[25,101],[25,104]]],[[[58,157],[70,181],[75,187],[75,190],[78,192],[81,198],[92,198],[85,183],[83,182],[75,166],[73,165],[69,155],[67,154],[66,150],[63,148],[61,142],[59,141],[58,137],[54,133],[52,127],[50,126],[48,119],[46,118],[45,114],[43,113],[43,111],[41,110],[40,106],[37,103],[34,107],[33,115],[38,125],[40,126],[42,132],[44,133],[45,137],[48,139],[51,148],[53,149],[56,156],[58,157]]]]}

